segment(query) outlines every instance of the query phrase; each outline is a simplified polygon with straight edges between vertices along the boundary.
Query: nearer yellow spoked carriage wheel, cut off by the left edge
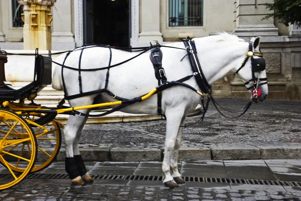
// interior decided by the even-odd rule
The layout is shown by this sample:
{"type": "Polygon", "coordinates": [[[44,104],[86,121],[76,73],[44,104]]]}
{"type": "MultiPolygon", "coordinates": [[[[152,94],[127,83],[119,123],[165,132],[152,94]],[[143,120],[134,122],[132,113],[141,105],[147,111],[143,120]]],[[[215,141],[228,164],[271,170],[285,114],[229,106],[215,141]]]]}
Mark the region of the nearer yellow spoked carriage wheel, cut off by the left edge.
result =
{"type": "Polygon", "coordinates": [[[32,170],[37,157],[37,139],[31,126],[21,116],[0,109],[0,190],[21,182],[32,170]],[[0,166],[1,167],[1,166],[0,166]],[[18,173],[13,169],[22,168],[18,173]]]}

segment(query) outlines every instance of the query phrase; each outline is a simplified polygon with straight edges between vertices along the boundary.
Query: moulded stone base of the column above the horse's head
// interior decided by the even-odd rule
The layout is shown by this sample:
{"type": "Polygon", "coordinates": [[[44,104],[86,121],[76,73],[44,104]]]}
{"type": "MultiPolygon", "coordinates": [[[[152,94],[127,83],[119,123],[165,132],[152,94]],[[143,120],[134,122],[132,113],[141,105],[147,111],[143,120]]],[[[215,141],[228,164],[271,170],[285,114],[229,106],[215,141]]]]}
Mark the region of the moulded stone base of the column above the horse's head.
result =
{"type": "Polygon", "coordinates": [[[274,25],[238,26],[233,34],[236,36],[278,36],[278,28],[274,25]]]}

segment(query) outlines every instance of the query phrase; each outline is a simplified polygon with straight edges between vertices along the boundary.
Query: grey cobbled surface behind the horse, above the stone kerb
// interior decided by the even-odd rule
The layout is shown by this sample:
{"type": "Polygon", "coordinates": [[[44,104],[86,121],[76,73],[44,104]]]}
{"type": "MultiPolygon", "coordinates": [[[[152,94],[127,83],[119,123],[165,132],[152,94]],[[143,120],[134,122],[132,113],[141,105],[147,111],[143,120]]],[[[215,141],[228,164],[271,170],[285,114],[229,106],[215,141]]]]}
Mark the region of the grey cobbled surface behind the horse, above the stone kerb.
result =
{"type": "MultiPolygon", "coordinates": [[[[246,99],[217,99],[230,110],[242,109],[246,99]]],[[[231,116],[231,113],[226,113],[231,116]]],[[[237,114],[235,114],[237,115],[237,114]]],[[[182,144],[210,143],[281,144],[301,142],[301,103],[266,100],[252,104],[246,114],[236,119],[222,117],[210,104],[203,122],[199,116],[188,117],[182,144]],[[192,125],[193,124],[193,125],[192,125]]],[[[82,146],[164,146],[166,121],[87,124],[82,146]]]]}

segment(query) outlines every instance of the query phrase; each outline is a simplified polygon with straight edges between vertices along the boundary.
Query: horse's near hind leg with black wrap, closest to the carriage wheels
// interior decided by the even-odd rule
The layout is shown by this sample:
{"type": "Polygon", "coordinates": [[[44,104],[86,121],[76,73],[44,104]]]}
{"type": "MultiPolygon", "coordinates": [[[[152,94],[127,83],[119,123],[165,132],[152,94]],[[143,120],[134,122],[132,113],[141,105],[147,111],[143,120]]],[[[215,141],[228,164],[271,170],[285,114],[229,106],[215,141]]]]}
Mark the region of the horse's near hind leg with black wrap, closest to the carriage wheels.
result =
{"type": "Polygon", "coordinates": [[[83,164],[83,161],[79,154],[78,136],[80,135],[78,134],[81,133],[81,129],[83,128],[85,120],[85,117],[70,116],[64,128],[66,149],[65,169],[69,175],[69,178],[71,179],[72,184],[74,185],[85,184],[84,180],[81,177],[81,174],[83,174],[84,170],[82,168],[78,168],[78,166],[82,167],[83,164]]]}

